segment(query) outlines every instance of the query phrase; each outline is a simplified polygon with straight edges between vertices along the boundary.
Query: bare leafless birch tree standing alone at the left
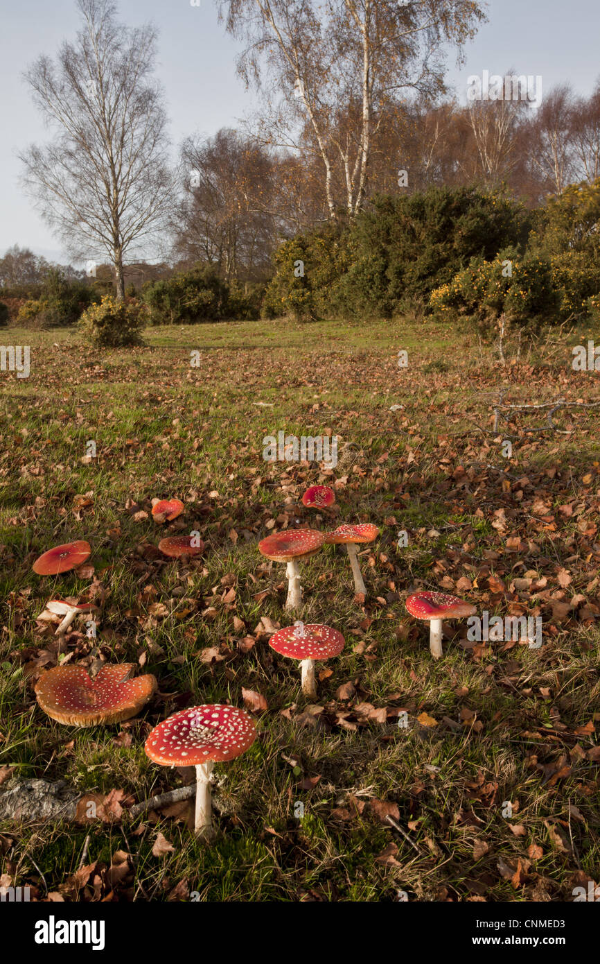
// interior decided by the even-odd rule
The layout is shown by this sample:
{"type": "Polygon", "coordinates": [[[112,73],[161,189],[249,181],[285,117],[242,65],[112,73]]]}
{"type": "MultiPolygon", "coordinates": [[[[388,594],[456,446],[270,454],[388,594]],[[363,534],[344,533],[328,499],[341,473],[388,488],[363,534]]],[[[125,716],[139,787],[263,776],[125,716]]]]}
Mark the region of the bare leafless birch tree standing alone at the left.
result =
{"type": "Polygon", "coordinates": [[[76,40],[25,74],[54,136],[21,154],[23,179],[69,254],[109,259],[121,300],[123,263],[155,243],[174,186],[163,94],[152,76],[156,33],[118,23],[112,0],[76,6],[76,40]]]}

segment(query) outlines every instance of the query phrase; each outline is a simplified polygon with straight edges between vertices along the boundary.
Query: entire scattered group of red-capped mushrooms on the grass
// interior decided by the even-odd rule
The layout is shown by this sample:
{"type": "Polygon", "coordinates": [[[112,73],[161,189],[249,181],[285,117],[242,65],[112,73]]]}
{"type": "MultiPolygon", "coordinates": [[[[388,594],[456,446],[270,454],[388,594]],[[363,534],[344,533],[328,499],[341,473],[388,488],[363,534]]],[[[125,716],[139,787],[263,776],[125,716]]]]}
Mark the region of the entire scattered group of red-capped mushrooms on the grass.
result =
{"type": "MultiPolygon", "coordinates": [[[[327,486],[312,486],[302,502],[309,508],[327,509],[335,502],[335,494],[327,486]]],[[[171,522],[184,510],[179,499],[155,499],[152,516],[155,522],[171,522]]],[[[378,526],[369,522],[339,525],[330,532],[320,529],[290,529],[274,533],[258,544],[260,552],[273,562],[287,566],[287,610],[300,614],[302,590],[299,562],[326,545],[345,545],[352,567],[354,589],[364,601],[366,587],[360,573],[356,547],[373,542],[378,526]]],[[[196,555],[204,549],[201,539],[171,536],[161,540],[158,548],[170,558],[196,555]]],[[[57,576],[82,565],[91,554],[85,541],[66,543],[49,549],[33,565],[39,576],[57,576]]],[[[463,618],[476,612],[474,606],[455,596],[437,592],[418,592],[406,600],[406,609],[417,619],[430,622],[430,651],[442,656],[442,620],[463,618]]],[[[56,630],[65,635],[74,619],[90,614],[92,603],[71,603],[53,599],[46,603],[52,616],[62,617],[56,630]]],[[[337,629],[322,624],[304,625],[299,619],[293,626],[278,629],[270,646],[281,656],[300,662],[301,689],[305,697],[315,700],[315,661],[339,656],[345,639],[337,629]]],[[[134,663],[102,665],[95,675],[82,666],[55,666],[42,673],[35,691],[39,707],[59,723],[91,727],[114,724],[136,716],[157,688],[151,674],[135,677],[134,663]]],[[[208,840],[212,836],[211,774],[215,763],[234,760],[248,750],[256,738],[254,722],[246,710],[228,704],[208,704],[180,710],[163,720],[150,732],[144,745],[146,755],[154,763],[165,766],[196,767],[196,836],[208,840]]]]}

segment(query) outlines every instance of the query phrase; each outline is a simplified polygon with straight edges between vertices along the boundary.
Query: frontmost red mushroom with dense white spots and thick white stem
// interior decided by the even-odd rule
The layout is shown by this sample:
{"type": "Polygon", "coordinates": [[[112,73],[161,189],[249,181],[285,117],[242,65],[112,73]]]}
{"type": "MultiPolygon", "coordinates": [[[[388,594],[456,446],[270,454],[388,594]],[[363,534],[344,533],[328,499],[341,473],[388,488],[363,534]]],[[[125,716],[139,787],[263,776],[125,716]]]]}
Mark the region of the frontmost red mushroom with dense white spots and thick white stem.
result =
{"type": "Polygon", "coordinates": [[[145,741],[146,755],[164,766],[196,766],[196,836],[211,833],[210,779],[214,763],[235,760],[256,738],[246,710],[220,704],[191,707],[155,726],[145,741]]]}

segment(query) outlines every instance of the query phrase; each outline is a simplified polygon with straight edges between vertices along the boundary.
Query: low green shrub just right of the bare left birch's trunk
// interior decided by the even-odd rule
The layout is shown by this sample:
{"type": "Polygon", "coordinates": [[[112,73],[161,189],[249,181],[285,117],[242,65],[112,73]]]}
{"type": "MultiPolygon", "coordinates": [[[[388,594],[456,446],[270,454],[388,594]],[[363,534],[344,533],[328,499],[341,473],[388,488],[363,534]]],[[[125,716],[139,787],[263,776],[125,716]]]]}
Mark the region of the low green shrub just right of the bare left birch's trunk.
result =
{"type": "Polygon", "coordinates": [[[226,284],[211,268],[195,268],[143,286],[153,325],[192,325],[226,317],[227,298],[226,284]]]}

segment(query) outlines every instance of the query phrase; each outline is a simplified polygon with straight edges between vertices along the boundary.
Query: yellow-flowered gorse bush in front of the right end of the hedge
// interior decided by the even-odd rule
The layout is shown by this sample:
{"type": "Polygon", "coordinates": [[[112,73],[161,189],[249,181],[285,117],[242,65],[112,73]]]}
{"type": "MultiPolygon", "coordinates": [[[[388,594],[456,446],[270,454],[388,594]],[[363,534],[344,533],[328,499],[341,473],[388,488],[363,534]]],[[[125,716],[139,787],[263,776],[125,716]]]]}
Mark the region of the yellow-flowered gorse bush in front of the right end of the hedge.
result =
{"type": "Polygon", "coordinates": [[[442,317],[466,317],[483,335],[492,334],[502,314],[509,325],[535,332],[557,320],[560,293],[548,259],[509,250],[493,261],[474,258],[431,292],[430,309],[442,317]]]}

